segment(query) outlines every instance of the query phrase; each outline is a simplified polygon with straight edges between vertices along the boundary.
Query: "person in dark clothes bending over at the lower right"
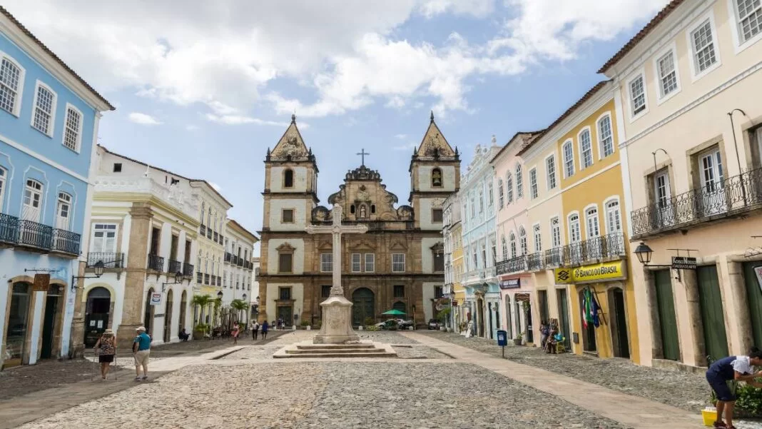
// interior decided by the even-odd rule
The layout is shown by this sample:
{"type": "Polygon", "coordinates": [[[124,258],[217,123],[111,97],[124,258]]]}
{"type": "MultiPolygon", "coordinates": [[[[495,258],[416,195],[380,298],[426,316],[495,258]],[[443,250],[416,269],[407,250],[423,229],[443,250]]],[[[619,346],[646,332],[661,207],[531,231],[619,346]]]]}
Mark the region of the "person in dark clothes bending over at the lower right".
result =
{"type": "Polygon", "coordinates": [[[762,378],[762,371],[753,372],[752,367],[762,365],[762,351],[753,347],[748,356],[724,357],[706,370],[706,381],[717,395],[717,420],[714,427],[735,429],[733,426],[733,408],[735,408],[735,395],[730,391],[728,381],[744,381],[750,386],[762,389],[762,383],[754,379],[762,378]],[[722,421],[722,411],[725,411],[725,421],[722,421]]]}

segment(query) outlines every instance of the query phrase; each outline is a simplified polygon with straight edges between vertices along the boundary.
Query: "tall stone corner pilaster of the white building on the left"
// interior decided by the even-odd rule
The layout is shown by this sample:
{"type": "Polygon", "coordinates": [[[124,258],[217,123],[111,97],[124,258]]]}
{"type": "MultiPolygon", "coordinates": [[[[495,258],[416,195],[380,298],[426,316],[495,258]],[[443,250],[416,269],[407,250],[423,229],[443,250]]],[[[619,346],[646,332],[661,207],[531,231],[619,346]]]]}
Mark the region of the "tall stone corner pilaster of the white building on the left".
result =
{"type": "Polygon", "coordinates": [[[149,204],[133,203],[130,216],[132,217],[132,226],[126,261],[122,322],[117,332],[117,343],[123,351],[131,350],[133,338],[135,338],[135,328],[143,324],[143,289],[146,283],[148,240],[151,235],[153,213],[149,204]]]}

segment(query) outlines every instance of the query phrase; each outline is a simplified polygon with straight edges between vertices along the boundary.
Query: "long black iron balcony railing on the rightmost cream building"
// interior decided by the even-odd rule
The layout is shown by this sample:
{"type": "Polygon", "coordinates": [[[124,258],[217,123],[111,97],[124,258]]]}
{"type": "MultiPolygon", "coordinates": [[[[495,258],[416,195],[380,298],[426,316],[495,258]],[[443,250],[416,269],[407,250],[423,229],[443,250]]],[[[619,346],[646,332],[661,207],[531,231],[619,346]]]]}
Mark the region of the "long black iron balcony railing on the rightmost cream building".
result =
{"type": "Polygon", "coordinates": [[[632,210],[632,238],[684,229],[762,205],[762,168],[632,210]]]}

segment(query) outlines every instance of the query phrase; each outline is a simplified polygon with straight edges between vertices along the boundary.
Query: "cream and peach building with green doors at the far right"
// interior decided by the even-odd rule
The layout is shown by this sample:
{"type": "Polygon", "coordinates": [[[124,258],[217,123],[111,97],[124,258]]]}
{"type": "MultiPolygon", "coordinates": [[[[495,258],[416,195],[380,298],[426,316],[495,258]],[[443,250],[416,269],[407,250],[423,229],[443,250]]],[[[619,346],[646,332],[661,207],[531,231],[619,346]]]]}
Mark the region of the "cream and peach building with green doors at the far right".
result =
{"type": "Polygon", "coordinates": [[[760,14],[760,2],[674,0],[600,69],[644,262],[632,267],[642,363],[703,367],[762,347],[760,14]],[[671,269],[676,256],[696,268],[671,269]]]}

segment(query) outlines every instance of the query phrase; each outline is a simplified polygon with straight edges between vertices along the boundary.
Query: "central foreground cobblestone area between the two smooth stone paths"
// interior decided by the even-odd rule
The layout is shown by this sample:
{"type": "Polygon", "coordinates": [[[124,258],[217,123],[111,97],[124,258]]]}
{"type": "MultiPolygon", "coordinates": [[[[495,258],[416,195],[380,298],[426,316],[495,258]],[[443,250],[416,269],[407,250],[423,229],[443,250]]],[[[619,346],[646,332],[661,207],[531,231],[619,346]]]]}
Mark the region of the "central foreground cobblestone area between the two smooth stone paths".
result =
{"type": "Polygon", "coordinates": [[[623,428],[488,370],[446,365],[259,362],[187,367],[21,427],[623,428]],[[455,382],[453,374],[459,374],[455,382]],[[231,408],[233,403],[237,405],[231,408]]]}

